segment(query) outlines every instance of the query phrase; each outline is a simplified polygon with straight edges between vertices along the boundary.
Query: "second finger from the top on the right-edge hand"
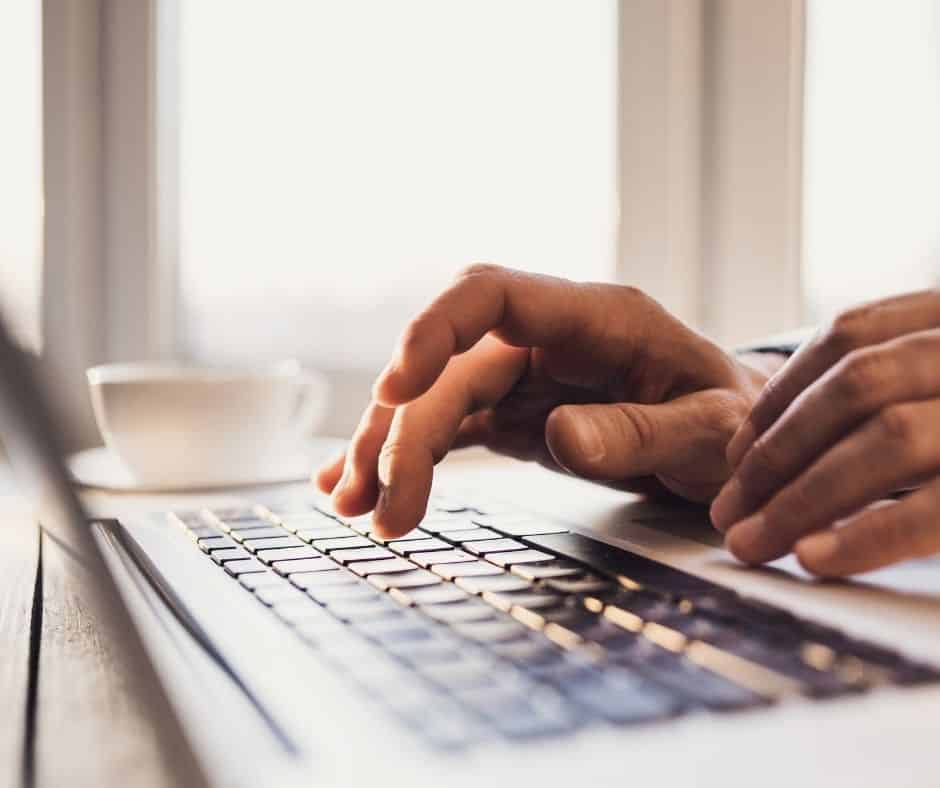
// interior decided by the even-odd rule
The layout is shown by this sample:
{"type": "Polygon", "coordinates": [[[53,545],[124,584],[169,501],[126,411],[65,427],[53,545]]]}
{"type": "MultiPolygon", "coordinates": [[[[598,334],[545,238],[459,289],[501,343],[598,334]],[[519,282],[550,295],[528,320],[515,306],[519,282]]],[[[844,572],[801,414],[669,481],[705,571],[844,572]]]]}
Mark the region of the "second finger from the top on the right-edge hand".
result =
{"type": "Polygon", "coordinates": [[[896,402],[940,394],[940,331],[853,351],[803,391],[748,449],[712,503],[726,530],[753,512],[852,427],[896,402]]]}

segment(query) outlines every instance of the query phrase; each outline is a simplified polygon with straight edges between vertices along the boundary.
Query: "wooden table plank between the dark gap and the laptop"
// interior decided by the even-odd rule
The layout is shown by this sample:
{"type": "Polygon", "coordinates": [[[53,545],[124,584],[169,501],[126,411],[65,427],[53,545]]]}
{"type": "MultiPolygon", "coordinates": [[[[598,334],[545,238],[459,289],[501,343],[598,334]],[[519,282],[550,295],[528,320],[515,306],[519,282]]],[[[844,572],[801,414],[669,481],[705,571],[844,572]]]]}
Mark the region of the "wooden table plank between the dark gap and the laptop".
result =
{"type": "Polygon", "coordinates": [[[85,569],[43,536],[35,785],[157,788],[204,780],[152,671],[88,593],[85,569]]]}

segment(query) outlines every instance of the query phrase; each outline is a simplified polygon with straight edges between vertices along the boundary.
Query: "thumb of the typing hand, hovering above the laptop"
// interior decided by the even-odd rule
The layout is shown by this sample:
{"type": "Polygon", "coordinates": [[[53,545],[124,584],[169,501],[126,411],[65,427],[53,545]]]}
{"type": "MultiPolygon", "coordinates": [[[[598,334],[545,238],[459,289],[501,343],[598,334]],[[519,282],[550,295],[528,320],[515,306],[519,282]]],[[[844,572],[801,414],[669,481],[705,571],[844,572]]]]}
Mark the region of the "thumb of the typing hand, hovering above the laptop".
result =
{"type": "Polygon", "coordinates": [[[719,389],[658,405],[562,405],[545,423],[555,461],[578,476],[620,481],[635,476],[725,464],[724,448],[746,407],[719,389]]]}

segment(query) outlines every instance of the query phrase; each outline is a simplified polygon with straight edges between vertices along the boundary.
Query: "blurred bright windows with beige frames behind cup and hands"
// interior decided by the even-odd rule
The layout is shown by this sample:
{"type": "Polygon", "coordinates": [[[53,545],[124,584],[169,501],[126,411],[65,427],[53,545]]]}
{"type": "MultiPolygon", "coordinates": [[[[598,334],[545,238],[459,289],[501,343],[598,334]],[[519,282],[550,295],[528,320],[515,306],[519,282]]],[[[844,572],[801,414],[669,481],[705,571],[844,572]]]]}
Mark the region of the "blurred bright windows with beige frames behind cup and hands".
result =
{"type": "Polygon", "coordinates": [[[348,434],[493,261],[733,346],[940,277],[940,0],[6,0],[0,302],[82,370],[296,357],[348,434]]]}

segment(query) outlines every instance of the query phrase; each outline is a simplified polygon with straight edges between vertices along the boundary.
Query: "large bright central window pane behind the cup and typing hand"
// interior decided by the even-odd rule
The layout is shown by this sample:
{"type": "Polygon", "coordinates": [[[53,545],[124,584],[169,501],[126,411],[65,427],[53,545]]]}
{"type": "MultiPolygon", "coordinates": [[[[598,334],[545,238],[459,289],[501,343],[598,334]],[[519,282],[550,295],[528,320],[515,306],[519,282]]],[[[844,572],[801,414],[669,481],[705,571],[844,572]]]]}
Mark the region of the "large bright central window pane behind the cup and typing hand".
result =
{"type": "Polygon", "coordinates": [[[180,4],[187,352],[376,371],[468,263],[611,278],[616,19],[613,0],[180,4]]]}

